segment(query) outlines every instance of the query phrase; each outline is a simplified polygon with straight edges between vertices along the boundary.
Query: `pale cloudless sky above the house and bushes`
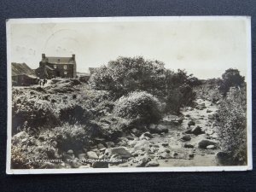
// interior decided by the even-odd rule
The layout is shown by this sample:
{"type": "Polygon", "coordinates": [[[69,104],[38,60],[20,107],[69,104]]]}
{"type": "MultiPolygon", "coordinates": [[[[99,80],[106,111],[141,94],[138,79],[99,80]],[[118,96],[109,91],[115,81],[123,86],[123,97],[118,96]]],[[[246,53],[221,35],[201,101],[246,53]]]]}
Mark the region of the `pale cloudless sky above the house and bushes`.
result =
{"type": "MultiPolygon", "coordinates": [[[[23,20],[24,21],[24,20],[23,20]]],[[[143,55],[199,79],[230,67],[247,77],[247,22],[236,20],[76,20],[11,22],[10,61],[37,68],[46,56],[76,55],[78,72],[119,56],[143,55]]]]}

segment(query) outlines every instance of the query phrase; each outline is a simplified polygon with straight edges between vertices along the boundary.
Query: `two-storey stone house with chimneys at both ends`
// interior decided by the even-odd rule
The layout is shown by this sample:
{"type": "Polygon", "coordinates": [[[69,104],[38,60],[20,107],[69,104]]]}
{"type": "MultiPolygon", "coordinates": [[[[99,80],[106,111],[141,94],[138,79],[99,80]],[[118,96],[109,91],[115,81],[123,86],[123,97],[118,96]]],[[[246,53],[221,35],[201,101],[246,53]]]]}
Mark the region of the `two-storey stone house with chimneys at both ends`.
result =
{"type": "Polygon", "coordinates": [[[42,54],[42,60],[39,62],[39,67],[35,72],[40,79],[57,77],[74,79],[77,77],[75,55],[71,57],[54,57],[42,54]]]}

